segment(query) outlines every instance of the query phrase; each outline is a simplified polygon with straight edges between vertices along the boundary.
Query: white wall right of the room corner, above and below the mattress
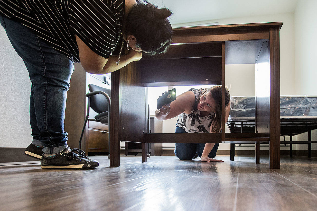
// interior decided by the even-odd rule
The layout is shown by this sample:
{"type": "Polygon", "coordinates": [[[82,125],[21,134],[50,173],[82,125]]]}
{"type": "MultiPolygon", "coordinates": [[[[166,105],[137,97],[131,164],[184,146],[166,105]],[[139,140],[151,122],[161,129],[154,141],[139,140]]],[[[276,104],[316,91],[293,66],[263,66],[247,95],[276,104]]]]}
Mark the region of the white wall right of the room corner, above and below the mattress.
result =
{"type": "MultiPolygon", "coordinates": [[[[317,1],[299,0],[294,11],[295,31],[295,94],[317,95],[317,1]]],[[[294,137],[307,140],[307,133],[294,137]]],[[[312,140],[317,140],[317,130],[312,131],[312,140]]],[[[307,145],[297,145],[295,149],[307,149],[307,145]]],[[[317,149],[312,144],[312,149],[317,149]]]]}

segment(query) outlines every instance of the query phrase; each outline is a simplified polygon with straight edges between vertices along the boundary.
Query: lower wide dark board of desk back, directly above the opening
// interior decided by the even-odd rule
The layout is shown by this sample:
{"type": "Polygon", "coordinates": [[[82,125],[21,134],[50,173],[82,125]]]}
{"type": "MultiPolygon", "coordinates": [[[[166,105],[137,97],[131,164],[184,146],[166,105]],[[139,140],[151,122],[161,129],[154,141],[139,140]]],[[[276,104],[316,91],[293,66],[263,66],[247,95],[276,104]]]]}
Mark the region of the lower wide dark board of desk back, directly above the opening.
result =
{"type": "Polygon", "coordinates": [[[139,61],[144,86],[221,84],[221,57],[139,61]]]}

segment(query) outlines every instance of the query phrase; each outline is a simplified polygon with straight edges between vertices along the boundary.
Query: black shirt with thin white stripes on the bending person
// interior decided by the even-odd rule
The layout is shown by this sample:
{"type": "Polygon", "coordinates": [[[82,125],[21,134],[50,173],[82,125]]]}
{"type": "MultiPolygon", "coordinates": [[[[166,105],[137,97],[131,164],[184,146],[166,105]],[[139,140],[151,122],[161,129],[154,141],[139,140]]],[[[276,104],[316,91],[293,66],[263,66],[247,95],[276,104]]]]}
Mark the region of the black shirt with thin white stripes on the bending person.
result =
{"type": "Polygon", "coordinates": [[[124,0],[0,0],[0,14],[80,62],[75,35],[102,57],[113,52],[122,30],[124,0]]]}

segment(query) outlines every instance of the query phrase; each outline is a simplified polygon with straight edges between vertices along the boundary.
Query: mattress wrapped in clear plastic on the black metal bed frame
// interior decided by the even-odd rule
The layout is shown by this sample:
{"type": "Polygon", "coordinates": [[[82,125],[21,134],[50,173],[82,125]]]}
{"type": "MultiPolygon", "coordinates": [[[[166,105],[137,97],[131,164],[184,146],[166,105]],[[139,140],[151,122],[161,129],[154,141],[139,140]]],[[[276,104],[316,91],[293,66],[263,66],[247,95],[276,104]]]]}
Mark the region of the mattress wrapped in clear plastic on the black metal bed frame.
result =
{"type": "MultiPolygon", "coordinates": [[[[255,120],[256,98],[231,96],[229,121],[255,120]]],[[[317,96],[281,96],[281,118],[317,118],[317,96]]]]}

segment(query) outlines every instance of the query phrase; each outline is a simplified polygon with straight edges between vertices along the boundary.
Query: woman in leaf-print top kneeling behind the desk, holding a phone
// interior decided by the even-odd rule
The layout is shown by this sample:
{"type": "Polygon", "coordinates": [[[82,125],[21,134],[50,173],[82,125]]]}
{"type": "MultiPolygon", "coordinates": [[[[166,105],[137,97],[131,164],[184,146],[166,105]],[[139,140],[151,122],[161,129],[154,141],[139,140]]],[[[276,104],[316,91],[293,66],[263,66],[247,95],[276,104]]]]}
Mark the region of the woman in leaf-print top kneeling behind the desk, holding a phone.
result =
{"type": "MultiPolygon", "coordinates": [[[[230,112],[230,94],[225,88],[225,122],[230,112]]],[[[171,119],[178,115],[175,133],[220,133],[221,130],[221,86],[205,89],[190,89],[177,96],[170,105],[156,110],[159,120],[171,119]]],[[[177,143],[175,155],[181,160],[191,160],[197,155],[203,162],[223,162],[213,159],[219,144],[177,143]]]]}

